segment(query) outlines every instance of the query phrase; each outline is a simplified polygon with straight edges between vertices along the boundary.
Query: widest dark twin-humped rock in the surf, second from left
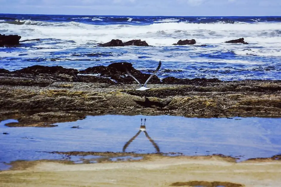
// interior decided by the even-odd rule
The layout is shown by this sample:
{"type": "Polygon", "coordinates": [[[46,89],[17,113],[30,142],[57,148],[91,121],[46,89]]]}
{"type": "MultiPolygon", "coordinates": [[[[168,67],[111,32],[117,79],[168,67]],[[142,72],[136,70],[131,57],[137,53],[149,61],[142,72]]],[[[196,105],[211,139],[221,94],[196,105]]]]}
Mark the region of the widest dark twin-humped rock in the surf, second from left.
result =
{"type": "Polygon", "coordinates": [[[141,40],[130,40],[123,42],[122,40],[119,39],[112,39],[111,41],[104,43],[104,44],[98,44],[98,46],[101,47],[123,47],[123,46],[149,46],[146,41],[141,41],[141,40]]]}

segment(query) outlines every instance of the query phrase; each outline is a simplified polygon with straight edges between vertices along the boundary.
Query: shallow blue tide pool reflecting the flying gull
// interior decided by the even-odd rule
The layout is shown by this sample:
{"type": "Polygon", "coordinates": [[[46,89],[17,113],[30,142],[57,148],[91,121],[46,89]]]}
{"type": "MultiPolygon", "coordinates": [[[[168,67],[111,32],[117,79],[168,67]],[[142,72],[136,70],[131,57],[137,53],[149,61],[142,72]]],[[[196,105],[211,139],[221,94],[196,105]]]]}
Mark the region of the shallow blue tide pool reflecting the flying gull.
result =
{"type": "Polygon", "coordinates": [[[0,122],[0,169],[14,160],[66,159],[48,153],[55,151],[223,154],[240,160],[281,152],[280,118],[103,115],[52,128],[4,126],[14,121],[0,122]]]}

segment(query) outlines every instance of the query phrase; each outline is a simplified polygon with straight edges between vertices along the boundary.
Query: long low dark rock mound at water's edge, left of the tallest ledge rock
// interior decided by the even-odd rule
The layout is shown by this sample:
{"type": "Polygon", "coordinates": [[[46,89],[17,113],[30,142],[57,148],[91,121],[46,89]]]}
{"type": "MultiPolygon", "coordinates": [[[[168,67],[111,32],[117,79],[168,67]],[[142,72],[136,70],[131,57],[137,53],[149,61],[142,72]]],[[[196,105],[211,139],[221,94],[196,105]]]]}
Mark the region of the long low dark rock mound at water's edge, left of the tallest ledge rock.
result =
{"type": "Polygon", "coordinates": [[[66,75],[77,75],[78,70],[77,69],[68,69],[63,68],[62,66],[41,66],[41,65],[35,65],[26,67],[20,70],[15,70],[13,73],[28,73],[28,74],[66,74],[66,75]]]}

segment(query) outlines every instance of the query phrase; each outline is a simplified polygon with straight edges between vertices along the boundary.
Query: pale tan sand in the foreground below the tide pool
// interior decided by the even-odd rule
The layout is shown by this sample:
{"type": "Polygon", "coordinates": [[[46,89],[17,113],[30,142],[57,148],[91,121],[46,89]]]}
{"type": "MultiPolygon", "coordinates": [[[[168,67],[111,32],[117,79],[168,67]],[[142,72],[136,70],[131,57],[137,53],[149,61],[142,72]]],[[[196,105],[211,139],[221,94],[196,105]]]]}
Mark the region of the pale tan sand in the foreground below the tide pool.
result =
{"type": "Polygon", "coordinates": [[[0,186],[280,187],[280,174],[281,162],[277,160],[236,163],[218,156],[153,156],[140,161],[75,165],[36,161],[27,168],[21,162],[13,170],[1,171],[0,186]]]}

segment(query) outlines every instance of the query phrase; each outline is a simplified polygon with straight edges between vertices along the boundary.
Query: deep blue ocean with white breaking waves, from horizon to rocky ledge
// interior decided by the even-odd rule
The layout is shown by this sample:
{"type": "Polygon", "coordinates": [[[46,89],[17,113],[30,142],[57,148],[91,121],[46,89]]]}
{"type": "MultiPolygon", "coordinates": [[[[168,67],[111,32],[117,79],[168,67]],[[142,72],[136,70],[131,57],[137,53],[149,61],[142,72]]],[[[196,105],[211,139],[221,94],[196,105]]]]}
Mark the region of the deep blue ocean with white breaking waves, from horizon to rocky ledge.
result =
{"type": "Polygon", "coordinates": [[[60,65],[86,69],[130,62],[160,78],[281,80],[281,16],[175,17],[0,14],[0,33],[28,41],[0,48],[0,68],[60,65]],[[249,44],[226,44],[245,38],[249,44]],[[97,47],[111,39],[145,40],[149,47],[97,47]],[[174,46],[195,39],[195,46],[174,46]],[[206,46],[200,46],[205,44],[206,46]]]}

